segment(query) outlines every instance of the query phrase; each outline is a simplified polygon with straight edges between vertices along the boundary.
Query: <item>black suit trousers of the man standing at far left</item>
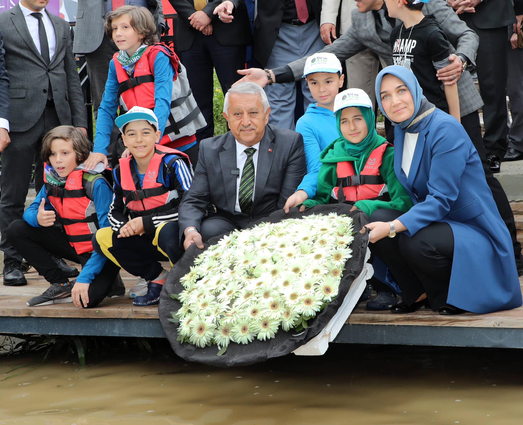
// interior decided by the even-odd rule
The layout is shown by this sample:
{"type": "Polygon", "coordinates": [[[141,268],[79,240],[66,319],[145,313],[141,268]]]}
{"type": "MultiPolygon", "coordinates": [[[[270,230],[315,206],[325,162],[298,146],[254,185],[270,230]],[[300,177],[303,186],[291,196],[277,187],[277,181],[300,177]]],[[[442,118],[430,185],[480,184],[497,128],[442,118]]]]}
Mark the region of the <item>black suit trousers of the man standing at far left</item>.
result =
{"type": "Polygon", "coordinates": [[[37,123],[27,131],[9,133],[11,143],[2,152],[2,181],[0,182],[0,250],[4,251],[4,263],[20,260],[21,256],[7,240],[7,226],[20,220],[24,214],[33,160],[35,161],[35,189],[43,186],[43,163],[40,158],[43,136],[59,126],[60,120],[54,106],[43,110],[37,123]]]}

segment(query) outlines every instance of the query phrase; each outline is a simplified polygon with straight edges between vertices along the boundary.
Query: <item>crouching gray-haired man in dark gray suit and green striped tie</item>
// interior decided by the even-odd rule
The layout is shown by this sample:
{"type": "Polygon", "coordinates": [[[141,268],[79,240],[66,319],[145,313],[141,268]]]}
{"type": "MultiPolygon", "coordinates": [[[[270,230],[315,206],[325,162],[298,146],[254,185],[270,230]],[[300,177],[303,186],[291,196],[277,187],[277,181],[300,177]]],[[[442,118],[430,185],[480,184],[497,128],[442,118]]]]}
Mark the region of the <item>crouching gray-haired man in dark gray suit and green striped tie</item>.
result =
{"type": "Polygon", "coordinates": [[[231,131],[200,142],[191,187],[178,210],[184,248],[213,236],[244,229],[283,208],[305,175],[303,138],[269,122],[263,88],[254,83],[229,89],[223,116],[231,131]],[[206,217],[214,205],[215,214],[206,217]]]}

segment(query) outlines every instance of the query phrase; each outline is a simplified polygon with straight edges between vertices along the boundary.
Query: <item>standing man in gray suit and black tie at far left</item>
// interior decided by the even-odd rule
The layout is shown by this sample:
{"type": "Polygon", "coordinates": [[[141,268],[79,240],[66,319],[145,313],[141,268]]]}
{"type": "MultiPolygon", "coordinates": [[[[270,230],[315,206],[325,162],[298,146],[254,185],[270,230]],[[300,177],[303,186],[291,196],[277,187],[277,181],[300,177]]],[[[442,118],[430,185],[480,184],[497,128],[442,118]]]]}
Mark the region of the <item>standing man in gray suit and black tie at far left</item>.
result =
{"type": "Polygon", "coordinates": [[[42,136],[59,125],[73,125],[87,135],[69,24],[46,12],[48,2],[21,0],[0,14],[9,73],[11,139],[2,152],[0,250],[4,251],[4,285],[26,284],[21,256],[7,241],[6,230],[12,221],[22,218],[33,160],[36,191],[43,185],[42,136]]]}

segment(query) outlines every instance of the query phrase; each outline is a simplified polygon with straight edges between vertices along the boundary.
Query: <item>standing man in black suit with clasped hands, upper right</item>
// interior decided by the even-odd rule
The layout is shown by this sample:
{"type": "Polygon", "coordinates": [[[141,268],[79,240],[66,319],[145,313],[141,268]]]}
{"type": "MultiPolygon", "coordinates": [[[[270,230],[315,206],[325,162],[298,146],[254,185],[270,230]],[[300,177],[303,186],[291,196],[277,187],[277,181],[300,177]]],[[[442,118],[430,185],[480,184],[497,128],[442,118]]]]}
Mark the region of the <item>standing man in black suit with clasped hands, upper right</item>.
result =
{"type": "Polygon", "coordinates": [[[499,173],[507,149],[507,25],[516,22],[510,0],[447,0],[480,38],[476,73],[483,98],[483,144],[491,170],[499,173]]]}

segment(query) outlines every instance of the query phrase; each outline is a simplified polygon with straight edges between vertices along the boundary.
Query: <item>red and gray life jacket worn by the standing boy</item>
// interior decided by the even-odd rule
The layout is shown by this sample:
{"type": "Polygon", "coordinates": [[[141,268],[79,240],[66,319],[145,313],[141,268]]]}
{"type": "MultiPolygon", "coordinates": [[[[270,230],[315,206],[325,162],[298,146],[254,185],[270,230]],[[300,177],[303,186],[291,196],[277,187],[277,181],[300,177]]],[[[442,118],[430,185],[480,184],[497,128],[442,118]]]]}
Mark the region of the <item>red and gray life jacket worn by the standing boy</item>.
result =
{"type": "Polygon", "coordinates": [[[171,95],[170,114],[160,144],[169,144],[178,148],[194,140],[196,130],[207,125],[192,95],[187,72],[174,51],[166,44],[158,43],[147,47],[140,59],[134,64],[133,77],[130,78],[118,62],[118,52],[113,55],[116,76],[120,87],[117,97],[120,113],[125,113],[133,106],[154,109],[154,60],[158,52],[164,52],[174,69],[173,92],[171,95]],[[192,137],[189,140],[188,137],[192,137]]]}

